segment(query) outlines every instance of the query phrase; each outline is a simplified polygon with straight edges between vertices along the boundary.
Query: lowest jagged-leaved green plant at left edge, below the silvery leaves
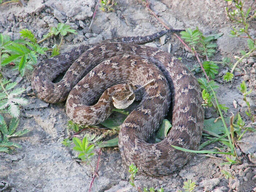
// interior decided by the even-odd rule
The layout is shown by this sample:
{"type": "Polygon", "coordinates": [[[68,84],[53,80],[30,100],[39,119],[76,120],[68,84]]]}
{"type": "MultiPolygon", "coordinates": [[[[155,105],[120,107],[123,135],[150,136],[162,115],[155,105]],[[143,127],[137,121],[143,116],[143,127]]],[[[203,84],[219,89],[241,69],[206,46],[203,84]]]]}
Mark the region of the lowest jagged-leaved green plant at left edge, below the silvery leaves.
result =
{"type": "Polygon", "coordinates": [[[10,142],[11,137],[18,137],[29,132],[27,129],[16,131],[19,124],[19,119],[12,118],[9,126],[7,126],[5,121],[0,124],[0,152],[9,153],[13,148],[20,148],[21,146],[10,142]],[[16,132],[15,132],[16,131],[16,132]]]}

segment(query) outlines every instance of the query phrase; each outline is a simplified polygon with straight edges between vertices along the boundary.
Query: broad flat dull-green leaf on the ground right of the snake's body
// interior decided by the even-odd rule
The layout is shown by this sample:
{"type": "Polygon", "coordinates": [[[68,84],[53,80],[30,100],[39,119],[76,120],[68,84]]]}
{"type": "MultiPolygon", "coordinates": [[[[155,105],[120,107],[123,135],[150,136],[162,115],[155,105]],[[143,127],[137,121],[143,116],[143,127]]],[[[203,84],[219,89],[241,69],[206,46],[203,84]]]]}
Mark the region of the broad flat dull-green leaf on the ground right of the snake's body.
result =
{"type": "MultiPolygon", "coordinates": [[[[229,124],[229,117],[224,118],[225,122],[229,124]]],[[[204,129],[210,132],[213,132],[217,135],[225,133],[223,124],[221,119],[218,119],[215,123],[214,121],[216,118],[211,118],[211,119],[205,119],[204,120],[204,129]]]]}

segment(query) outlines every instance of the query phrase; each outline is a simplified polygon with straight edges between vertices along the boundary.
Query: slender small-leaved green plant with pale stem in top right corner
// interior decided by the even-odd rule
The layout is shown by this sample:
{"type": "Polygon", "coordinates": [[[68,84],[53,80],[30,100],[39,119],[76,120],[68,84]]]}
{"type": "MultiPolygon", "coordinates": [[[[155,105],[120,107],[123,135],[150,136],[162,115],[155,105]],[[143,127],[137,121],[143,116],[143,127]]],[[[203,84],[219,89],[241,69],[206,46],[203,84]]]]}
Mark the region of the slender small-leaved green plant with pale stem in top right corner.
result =
{"type": "Polygon", "coordinates": [[[240,50],[242,57],[238,58],[237,62],[233,65],[231,71],[227,72],[226,75],[223,76],[224,81],[230,81],[233,78],[233,72],[237,64],[240,63],[244,58],[248,57],[253,51],[256,50],[256,39],[253,39],[248,32],[249,30],[248,22],[256,18],[256,10],[254,10],[252,14],[250,14],[251,6],[247,10],[244,10],[243,8],[244,1],[234,0],[234,3],[235,3],[235,7],[237,8],[236,10],[229,11],[227,7],[225,8],[228,18],[238,25],[236,27],[232,27],[233,30],[230,31],[230,35],[232,37],[248,38],[247,45],[248,45],[249,51],[246,52],[244,50],[240,50]],[[242,27],[239,27],[241,25],[242,27]],[[245,36],[242,36],[244,34],[245,36]]]}

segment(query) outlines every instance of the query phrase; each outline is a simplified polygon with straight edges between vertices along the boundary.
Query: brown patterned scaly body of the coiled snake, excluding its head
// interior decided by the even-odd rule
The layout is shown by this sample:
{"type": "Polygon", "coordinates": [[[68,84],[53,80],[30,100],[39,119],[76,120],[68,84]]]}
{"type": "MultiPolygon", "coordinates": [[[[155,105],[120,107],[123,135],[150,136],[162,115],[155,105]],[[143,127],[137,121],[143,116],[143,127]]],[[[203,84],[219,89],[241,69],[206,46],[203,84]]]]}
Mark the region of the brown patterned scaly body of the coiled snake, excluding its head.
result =
{"type": "Polygon", "coordinates": [[[194,75],[178,59],[161,49],[138,44],[178,31],[104,40],[43,60],[31,77],[33,91],[49,103],[67,99],[69,118],[89,125],[111,114],[113,104],[108,99],[119,95],[115,91],[122,86],[124,90],[136,89],[155,79],[141,89],[141,102],[121,125],[118,144],[128,165],[135,163],[147,175],[168,175],[192,156],[171,145],[198,149],[204,120],[201,91],[194,75]],[[52,82],[65,71],[59,82],[52,82]],[[172,113],[168,113],[169,108],[172,113]],[[159,143],[147,143],[164,118],[172,120],[167,137],[159,143]]]}

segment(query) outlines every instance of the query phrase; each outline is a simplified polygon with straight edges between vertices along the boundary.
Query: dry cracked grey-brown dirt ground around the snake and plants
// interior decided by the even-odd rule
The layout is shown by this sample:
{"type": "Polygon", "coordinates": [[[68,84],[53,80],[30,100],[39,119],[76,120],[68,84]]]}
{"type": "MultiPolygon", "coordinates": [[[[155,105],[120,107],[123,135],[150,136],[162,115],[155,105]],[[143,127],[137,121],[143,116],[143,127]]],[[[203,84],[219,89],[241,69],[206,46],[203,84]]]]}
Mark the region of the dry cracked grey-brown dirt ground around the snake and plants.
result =
{"type": "MultiPolygon", "coordinates": [[[[119,0],[114,7],[115,11],[111,13],[98,10],[90,33],[87,30],[95,8],[94,0],[22,2],[23,5],[17,3],[0,5],[0,33],[16,39],[19,38],[18,32],[27,28],[41,39],[48,32],[49,27],[56,26],[59,22],[66,23],[76,29],[78,34],[68,35],[65,38],[61,52],[80,44],[92,44],[112,37],[143,36],[164,29],[138,0],[119,0]]],[[[252,6],[252,10],[256,9],[255,1],[246,1],[245,4],[252,6]]],[[[246,39],[229,37],[233,23],[226,18],[225,6],[227,2],[213,0],[150,1],[152,10],[172,28],[195,29],[197,26],[205,35],[222,32],[223,36],[217,40],[218,51],[213,60],[221,61],[222,57],[230,57],[234,63],[233,56],[240,55],[239,50],[246,47],[246,39]]],[[[255,38],[255,20],[251,22],[250,28],[250,35],[255,38]]],[[[59,38],[56,38],[56,41],[59,42],[59,38]]],[[[155,41],[148,45],[167,50],[169,43],[172,44],[172,54],[182,57],[186,65],[192,67],[197,63],[174,35],[168,35],[165,44],[155,41]]],[[[43,45],[49,47],[53,44],[54,39],[51,39],[45,41],[43,45]]],[[[41,56],[39,60],[45,58],[46,56],[41,56]]],[[[245,71],[236,74],[246,73],[246,75],[235,77],[231,83],[223,83],[221,74],[225,73],[227,68],[219,65],[220,76],[216,81],[220,88],[217,97],[220,103],[230,108],[227,115],[230,115],[230,112],[236,113],[238,109],[241,109],[241,113],[244,114],[246,105],[237,89],[242,80],[246,80],[247,85],[254,89],[249,101],[252,109],[256,109],[255,99],[253,99],[256,97],[256,58],[252,56],[243,62],[239,64],[239,68],[244,68],[245,71]],[[238,109],[233,106],[234,100],[238,102],[238,109]]],[[[30,130],[26,135],[12,140],[19,143],[22,146],[21,149],[17,149],[12,155],[0,153],[0,181],[10,184],[5,191],[88,191],[92,177],[90,168],[84,163],[77,163],[73,159],[76,155],[72,150],[60,143],[67,136],[68,118],[65,114],[65,104],[48,104],[36,97],[28,96],[27,94],[31,93],[31,71],[21,77],[10,67],[5,67],[3,75],[19,82],[20,86],[26,89],[24,96],[29,100],[29,104],[21,109],[19,129],[30,130]],[[49,138],[58,139],[38,142],[49,138]]],[[[197,75],[197,77],[200,76],[201,74],[197,75]]],[[[205,117],[217,116],[214,111],[207,110],[205,117]]],[[[95,130],[89,132],[100,133],[95,130]]],[[[245,156],[256,153],[256,133],[247,132],[238,145],[245,156]]],[[[206,148],[211,149],[214,146],[220,145],[215,143],[206,148]]],[[[238,154],[242,158],[240,151],[238,154]]],[[[94,163],[96,158],[96,156],[93,158],[94,163]]],[[[220,163],[223,163],[220,159],[195,155],[182,169],[169,176],[154,178],[138,175],[135,183],[142,187],[163,187],[165,192],[175,192],[182,189],[184,181],[192,179],[196,183],[195,191],[256,191],[256,167],[246,166],[251,162],[243,159],[242,165],[233,166],[221,166],[220,163]],[[230,172],[233,178],[226,179],[221,174],[221,170],[230,172]]],[[[117,147],[102,149],[99,170],[99,178],[95,179],[97,188],[93,185],[92,191],[114,192],[130,187],[128,168],[122,161],[117,147]]]]}

